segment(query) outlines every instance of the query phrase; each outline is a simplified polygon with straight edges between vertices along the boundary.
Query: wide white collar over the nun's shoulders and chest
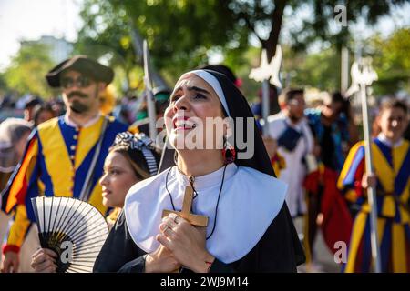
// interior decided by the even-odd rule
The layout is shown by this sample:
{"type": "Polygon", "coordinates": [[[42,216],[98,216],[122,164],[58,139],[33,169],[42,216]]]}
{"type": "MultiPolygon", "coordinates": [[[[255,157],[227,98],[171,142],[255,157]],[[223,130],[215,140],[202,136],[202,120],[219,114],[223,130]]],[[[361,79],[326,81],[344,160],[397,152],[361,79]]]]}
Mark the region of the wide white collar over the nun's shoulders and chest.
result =
{"type": "MultiPolygon", "coordinates": [[[[198,196],[193,200],[192,209],[195,214],[209,217],[207,236],[215,224],[221,171],[223,168],[194,181],[198,196]]],[[[147,253],[159,246],[155,237],[159,234],[162,211],[172,209],[166,181],[175,208],[179,210],[188,178],[176,167],[132,186],[126,196],[124,213],[129,234],[147,253]]],[[[281,210],[286,189],[282,181],[251,167],[227,166],[217,222],[206,241],[210,254],[228,264],[251,252],[281,210]]]]}

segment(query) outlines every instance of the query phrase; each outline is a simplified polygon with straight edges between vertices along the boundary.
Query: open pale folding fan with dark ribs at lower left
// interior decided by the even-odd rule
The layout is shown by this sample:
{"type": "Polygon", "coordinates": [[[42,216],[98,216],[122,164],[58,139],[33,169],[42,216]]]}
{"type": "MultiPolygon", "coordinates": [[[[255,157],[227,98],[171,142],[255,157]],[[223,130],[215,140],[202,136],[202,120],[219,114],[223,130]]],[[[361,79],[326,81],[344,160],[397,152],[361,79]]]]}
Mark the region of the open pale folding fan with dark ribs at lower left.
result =
{"type": "Polygon", "coordinates": [[[108,236],[104,216],[87,202],[68,197],[31,199],[40,245],[56,252],[57,273],[92,272],[108,236]]]}

